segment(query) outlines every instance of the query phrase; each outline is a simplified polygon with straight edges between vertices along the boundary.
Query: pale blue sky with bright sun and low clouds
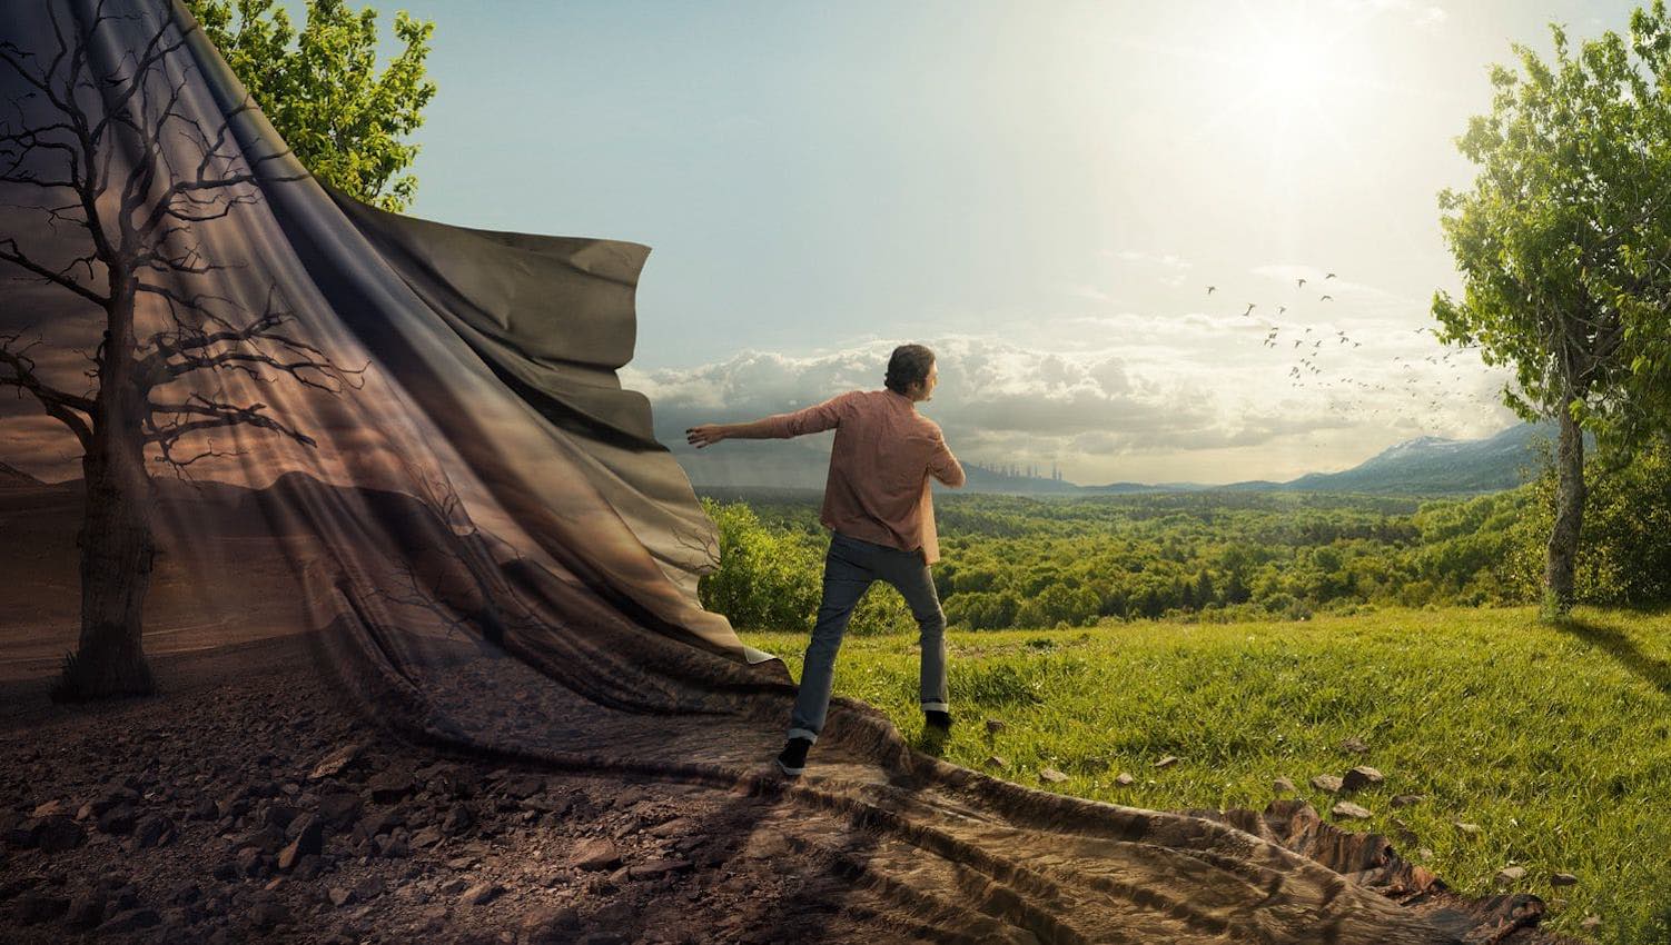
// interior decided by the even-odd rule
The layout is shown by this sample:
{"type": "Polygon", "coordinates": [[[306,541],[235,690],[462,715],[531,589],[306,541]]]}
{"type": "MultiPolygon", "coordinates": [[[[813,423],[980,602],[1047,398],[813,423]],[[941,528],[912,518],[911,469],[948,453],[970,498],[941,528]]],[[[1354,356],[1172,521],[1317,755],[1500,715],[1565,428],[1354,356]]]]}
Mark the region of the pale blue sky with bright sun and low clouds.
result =
{"type": "Polygon", "coordinates": [[[1223,483],[1512,422],[1415,331],[1457,287],[1452,137],[1511,42],[1634,5],[404,7],[439,85],[413,212],[652,245],[623,382],[663,442],[919,341],[959,456],[1223,483]]]}

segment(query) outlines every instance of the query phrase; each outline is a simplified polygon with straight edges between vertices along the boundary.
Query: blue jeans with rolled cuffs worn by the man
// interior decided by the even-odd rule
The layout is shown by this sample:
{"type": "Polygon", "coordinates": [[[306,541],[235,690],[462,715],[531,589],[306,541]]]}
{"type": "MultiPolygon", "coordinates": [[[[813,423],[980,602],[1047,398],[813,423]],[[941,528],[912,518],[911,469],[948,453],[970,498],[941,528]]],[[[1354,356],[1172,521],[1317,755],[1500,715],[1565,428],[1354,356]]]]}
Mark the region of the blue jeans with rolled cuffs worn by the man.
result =
{"type": "Polygon", "coordinates": [[[901,551],[886,544],[830,533],[830,549],[824,556],[824,601],[819,604],[819,621],[812,628],[812,643],[800,666],[800,691],[789,716],[789,738],[819,740],[824,715],[830,706],[830,685],[836,678],[836,651],[859,598],[871,581],[887,581],[911,608],[917,619],[922,644],[922,670],[919,695],[922,711],[946,711],[946,613],[929,566],[921,551],[901,551]]]}

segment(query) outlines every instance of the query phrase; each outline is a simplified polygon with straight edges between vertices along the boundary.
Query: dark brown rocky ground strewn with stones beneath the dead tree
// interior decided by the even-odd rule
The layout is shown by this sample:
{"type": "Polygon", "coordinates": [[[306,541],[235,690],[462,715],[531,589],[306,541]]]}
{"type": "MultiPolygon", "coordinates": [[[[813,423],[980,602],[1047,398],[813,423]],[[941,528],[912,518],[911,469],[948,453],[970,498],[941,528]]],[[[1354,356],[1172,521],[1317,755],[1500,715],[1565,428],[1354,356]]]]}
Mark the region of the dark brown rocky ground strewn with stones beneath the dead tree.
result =
{"type": "Polygon", "coordinates": [[[411,746],[356,718],[294,641],[157,668],[162,696],[92,708],[52,706],[43,681],[0,690],[7,942],[911,932],[837,875],[839,831],[779,798],[411,746]]]}

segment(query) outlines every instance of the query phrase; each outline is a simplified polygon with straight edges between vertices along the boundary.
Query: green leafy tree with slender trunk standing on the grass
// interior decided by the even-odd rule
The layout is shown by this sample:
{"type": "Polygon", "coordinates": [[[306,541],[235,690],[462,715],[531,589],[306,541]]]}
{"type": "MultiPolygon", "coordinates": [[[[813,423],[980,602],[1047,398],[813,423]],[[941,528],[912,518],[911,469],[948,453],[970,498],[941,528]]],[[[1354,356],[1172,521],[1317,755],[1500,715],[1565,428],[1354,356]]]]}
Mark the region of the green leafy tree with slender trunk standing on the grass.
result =
{"type": "Polygon", "coordinates": [[[1479,174],[1439,205],[1464,292],[1435,292],[1432,312],[1440,341],[1514,367],[1506,404],[1559,421],[1544,594],[1562,616],[1584,521],[1584,431],[1624,456],[1671,411],[1671,28],[1656,0],[1631,15],[1629,43],[1606,32],[1572,55],[1564,30],[1549,30],[1556,60],[1516,43],[1524,77],[1492,65],[1492,114],[1457,139],[1479,174]]]}

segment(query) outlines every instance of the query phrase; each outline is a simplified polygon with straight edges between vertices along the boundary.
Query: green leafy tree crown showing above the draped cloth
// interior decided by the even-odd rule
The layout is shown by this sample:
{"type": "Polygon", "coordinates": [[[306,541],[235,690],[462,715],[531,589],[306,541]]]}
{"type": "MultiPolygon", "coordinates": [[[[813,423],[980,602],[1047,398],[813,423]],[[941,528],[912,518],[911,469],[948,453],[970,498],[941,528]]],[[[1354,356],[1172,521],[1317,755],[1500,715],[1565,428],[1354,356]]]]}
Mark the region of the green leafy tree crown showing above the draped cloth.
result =
{"type": "Polygon", "coordinates": [[[277,0],[185,0],[204,33],[314,177],[384,210],[403,210],[418,179],[401,174],[434,97],[424,57],[434,23],[394,15],[401,52],[379,73],[378,13],[307,0],[297,33],[277,0]]]}

